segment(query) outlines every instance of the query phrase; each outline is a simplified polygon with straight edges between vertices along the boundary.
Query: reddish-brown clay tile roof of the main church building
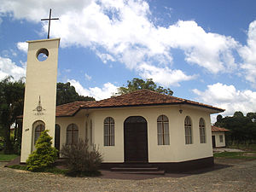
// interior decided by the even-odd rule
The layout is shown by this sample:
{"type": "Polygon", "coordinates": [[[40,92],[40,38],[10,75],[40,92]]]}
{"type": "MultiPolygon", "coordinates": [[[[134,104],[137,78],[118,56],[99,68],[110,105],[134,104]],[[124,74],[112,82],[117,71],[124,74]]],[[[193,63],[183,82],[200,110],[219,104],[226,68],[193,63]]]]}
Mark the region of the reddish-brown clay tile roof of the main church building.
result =
{"type": "Polygon", "coordinates": [[[152,90],[136,90],[122,96],[113,96],[98,102],[71,102],[56,108],[56,116],[73,116],[80,108],[124,108],[150,105],[168,105],[168,104],[189,104],[203,108],[210,108],[217,112],[223,112],[224,109],[215,108],[200,102],[184,100],[175,96],[167,96],[152,90]]]}

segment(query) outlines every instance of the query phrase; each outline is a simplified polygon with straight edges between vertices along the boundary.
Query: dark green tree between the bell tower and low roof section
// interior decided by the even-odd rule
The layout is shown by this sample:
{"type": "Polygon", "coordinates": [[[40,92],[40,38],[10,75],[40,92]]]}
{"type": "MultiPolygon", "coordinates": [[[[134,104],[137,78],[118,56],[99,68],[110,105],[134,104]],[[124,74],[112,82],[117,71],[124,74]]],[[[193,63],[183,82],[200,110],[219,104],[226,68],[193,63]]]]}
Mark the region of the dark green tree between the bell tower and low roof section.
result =
{"type": "Polygon", "coordinates": [[[95,99],[90,96],[79,96],[76,89],[69,82],[57,84],[56,105],[81,101],[95,101],[95,99]]]}

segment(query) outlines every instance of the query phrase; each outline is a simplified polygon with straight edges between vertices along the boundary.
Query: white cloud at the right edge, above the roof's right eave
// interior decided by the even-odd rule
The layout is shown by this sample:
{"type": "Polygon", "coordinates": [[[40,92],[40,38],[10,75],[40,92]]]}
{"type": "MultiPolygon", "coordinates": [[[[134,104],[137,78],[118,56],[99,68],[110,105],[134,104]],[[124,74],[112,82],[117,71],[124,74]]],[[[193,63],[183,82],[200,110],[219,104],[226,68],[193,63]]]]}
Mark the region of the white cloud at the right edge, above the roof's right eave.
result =
{"type": "Polygon", "coordinates": [[[198,100],[224,108],[224,115],[233,115],[236,111],[246,114],[256,111],[256,92],[252,90],[236,90],[234,85],[210,84],[207,90],[193,90],[198,100]]]}

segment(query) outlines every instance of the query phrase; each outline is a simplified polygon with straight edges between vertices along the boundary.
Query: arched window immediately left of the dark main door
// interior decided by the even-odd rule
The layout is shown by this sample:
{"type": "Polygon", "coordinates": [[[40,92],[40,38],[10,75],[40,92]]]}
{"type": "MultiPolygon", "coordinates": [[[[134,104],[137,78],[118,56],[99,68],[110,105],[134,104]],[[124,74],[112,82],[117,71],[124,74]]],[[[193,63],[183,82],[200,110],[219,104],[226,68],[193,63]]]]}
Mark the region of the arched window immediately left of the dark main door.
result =
{"type": "Polygon", "coordinates": [[[114,121],[111,117],[104,119],[104,146],[114,146],[114,121]]]}

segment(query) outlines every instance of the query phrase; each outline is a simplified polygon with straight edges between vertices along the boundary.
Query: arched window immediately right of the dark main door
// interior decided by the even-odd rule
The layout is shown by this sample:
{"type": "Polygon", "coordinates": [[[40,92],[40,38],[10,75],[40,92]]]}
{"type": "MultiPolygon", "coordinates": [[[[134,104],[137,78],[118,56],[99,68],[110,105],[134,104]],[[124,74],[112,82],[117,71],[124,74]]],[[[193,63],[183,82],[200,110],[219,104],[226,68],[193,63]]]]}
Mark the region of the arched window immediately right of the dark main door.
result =
{"type": "Polygon", "coordinates": [[[158,145],[169,145],[169,120],[166,115],[160,115],[157,119],[158,145]]]}

